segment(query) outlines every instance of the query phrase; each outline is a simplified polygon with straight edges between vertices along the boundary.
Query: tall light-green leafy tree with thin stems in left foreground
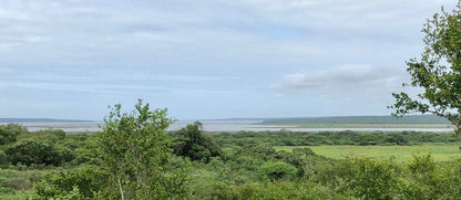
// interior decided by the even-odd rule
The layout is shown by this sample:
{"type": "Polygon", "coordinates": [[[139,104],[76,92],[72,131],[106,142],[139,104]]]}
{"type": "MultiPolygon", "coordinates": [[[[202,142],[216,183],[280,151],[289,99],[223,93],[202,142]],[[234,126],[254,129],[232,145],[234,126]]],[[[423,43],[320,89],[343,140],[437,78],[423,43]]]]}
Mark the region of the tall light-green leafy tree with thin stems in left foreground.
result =
{"type": "MultiPolygon", "coordinates": [[[[168,169],[171,149],[164,133],[173,123],[166,109],[142,101],[127,114],[112,107],[96,135],[99,159],[121,199],[168,199],[184,194],[184,172],[168,169]]],[[[180,169],[181,170],[181,169],[180,169]]]]}

